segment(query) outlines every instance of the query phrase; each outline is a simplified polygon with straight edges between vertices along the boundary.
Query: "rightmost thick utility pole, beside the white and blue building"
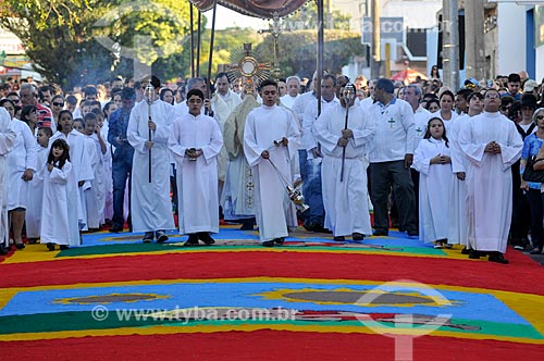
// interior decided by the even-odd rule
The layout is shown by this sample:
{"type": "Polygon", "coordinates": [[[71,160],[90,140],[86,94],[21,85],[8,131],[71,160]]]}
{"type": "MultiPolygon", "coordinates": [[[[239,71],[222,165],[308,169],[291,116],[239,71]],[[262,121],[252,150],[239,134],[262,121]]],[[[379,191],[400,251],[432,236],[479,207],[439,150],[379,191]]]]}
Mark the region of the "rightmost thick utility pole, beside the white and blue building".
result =
{"type": "Polygon", "coordinates": [[[465,34],[467,78],[473,77],[478,80],[489,77],[485,74],[484,54],[484,8],[483,1],[465,1],[465,34]]]}

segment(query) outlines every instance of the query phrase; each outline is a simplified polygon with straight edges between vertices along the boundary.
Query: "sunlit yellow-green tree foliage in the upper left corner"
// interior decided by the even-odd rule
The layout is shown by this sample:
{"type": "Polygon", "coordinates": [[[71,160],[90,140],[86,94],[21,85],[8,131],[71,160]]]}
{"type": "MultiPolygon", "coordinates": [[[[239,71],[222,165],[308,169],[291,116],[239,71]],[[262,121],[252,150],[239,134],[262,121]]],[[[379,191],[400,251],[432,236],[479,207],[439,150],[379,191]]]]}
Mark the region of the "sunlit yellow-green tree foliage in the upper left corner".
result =
{"type": "Polygon", "coordinates": [[[184,50],[190,27],[188,1],[2,0],[1,4],[0,25],[22,40],[38,72],[64,87],[103,82],[113,74],[131,76],[131,58],[163,65],[184,50]]]}

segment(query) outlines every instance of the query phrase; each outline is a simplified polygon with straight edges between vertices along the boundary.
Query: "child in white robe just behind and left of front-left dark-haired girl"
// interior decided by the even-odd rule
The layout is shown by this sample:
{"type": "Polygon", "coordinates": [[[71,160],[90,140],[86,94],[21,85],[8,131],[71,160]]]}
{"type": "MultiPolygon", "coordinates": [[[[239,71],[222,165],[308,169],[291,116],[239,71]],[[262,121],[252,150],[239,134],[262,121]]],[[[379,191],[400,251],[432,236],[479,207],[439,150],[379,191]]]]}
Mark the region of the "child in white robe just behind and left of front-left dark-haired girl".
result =
{"type": "Polygon", "coordinates": [[[41,225],[41,204],[44,195],[44,177],[42,169],[46,166],[47,157],[49,154],[49,138],[53,132],[49,127],[38,128],[37,141],[38,148],[36,151],[36,175],[29,182],[28,197],[25,214],[26,222],[26,237],[29,244],[35,244],[39,238],[39,229],[41,225]]]}

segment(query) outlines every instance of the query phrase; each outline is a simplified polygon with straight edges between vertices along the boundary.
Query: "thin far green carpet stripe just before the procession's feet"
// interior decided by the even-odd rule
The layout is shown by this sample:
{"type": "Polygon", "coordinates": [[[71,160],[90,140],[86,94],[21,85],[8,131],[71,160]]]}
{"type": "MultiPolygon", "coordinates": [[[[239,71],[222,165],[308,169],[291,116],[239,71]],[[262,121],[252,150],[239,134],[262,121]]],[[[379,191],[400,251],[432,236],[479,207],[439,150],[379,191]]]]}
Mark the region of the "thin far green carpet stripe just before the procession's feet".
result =
{"type": "MultiPolygon", "coordinates": [[[[201,246],[201,247],[183,247],[182,244],[121,244],[121,245],[104,245],[76,247],[60,251],[55,258],[70,258],[83,256],[104,256],[104,254],[123,254],[123,253],[147,253],[147,252],[202,252],[210,251],[251,251],[251,250],[269,250],[260,245],[249,246],[201,246]]],[[[305,246],[305,245],[286,245],[284,247],[274,248],[281,251],[322,251],[322,252],[375,252],[375,253],[404,253],[411,256],[432,256],[447,258],[447,253],[440,249],[425,247],[403,247],[403,246],[360,246],[360,247],[334,247],[334,246],[305,246]]]]}

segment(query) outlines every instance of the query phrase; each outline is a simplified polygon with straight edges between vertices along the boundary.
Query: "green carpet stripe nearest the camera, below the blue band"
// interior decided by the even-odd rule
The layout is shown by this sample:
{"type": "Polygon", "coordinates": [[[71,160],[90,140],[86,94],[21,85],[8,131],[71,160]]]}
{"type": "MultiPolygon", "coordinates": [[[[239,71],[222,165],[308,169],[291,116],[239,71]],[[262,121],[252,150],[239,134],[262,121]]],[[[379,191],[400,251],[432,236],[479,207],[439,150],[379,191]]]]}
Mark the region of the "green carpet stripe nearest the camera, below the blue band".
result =
{"type": "MultiPolygon", "coordinates": [[[[120,320],[116,313],[110,313],[109,316],[103,321],[96,321],[92,319],[91,312],[59,312],[59,313],[39,313],[29,315],[10,315],[0,318],[0,335],[10,334],[24,334],[24,333],[48,333],[48,332],[67,332],[67,331],[85,331],[85,329],[113,329],[122,327],[149,327],[156,325],[164,326],[226,326],[228,325],[232,329],[237,329],[237,326],[254,324],[262,325],[294,325],[298,327],[312,329],[317,326],[330,326],[330,327],[363,327],[363,324],[359,321],[323,321],[323,322],[309,322],[309,321],[260,321],[260,320],[244,320],[244,321],[202,321],[202,320],[177,320],[176,318],[169,319],[165,316],[163,320],[153,320],[151,316],[147,316],[146,320],[136,316],[131,316],[128,320],[120,320]]],[[[380,322],[383,327],[391,327],[391,324],[380,322]]],[[[470,335],[485,335],[485,336],[502,336],[511,338],[526,338],[542,340],[544,336],[540,334],[531,325],[520,325],[520,324],[505,324],[485,321],[474,321],[474,320],[449,320],[449,325],[442,326],[438,329],[444,332],[454,332],[459,334],[465,334],[467,337],[470,335]],[[462,329],[462,326],[469,326],[472,329],[462,329]],[[477,328],[477,329],[473,329],[477,328]]],[[[405,326],[404,328],[411,328],[412,326],[405,326]]],[[[415,328],[424,327],[421,325],[413,326],[415,328]]],[[[400,327],[397,327],[400,328],[400,327]]]]}

